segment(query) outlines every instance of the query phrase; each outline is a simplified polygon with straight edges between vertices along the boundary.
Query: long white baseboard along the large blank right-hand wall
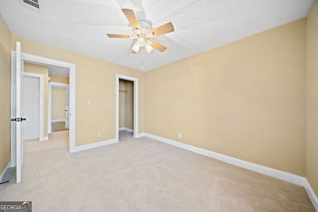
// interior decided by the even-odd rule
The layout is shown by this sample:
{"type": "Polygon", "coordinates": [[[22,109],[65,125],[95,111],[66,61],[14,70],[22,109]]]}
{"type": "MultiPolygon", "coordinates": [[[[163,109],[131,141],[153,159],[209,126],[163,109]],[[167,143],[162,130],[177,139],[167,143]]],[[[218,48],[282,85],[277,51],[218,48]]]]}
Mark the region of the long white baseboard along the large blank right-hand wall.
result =
{"type": "Polygon", "coordinates": [[[298,175],[290,174],[288,172],[283,172],[283,171],[279,171],[276,169],[268,168],[266,166],[261,166],[261,165],[255,164],[255,163],[250,163],[250,162],[240,160],[240,159],[237,159],[234,157],[230,157],[230,156],[227,156],[224,154],[220,154],[217,152],[198,148],[198,147],[191,146],[191,145],[184,144],[184,143],[180,143],[177,141],[172,141],[172,140],[165,139],[165,138],[162,138],[159,136],[154,136],[154,135],[145,133],[145,137],[148,137],[148,138],[151,138],[151,139],[154,139],[157,141],[165,142],[165,143],[168,143],[168,144],[171,144],[171,145],[174,145],[174,146],[177,146],[177,147],[189,150],[189,151],[193,151],[193,152],[196,152],[196,153],[208,156],[208,157],[212,157],[212,158],[215,158],[215,159],[218,159],[218,160],[221,160],[221,161],[224,161],[224,162],[227,162],[227,163],[230,163],[230,164],[233,164],[233,165],[236,165],[236,166],[239,166],[239,167],[251,170],[251,171],[265,174],[265,175],[268,175],[268,176],[271,176],[271,177],[274,177],[274,178],[277,178],[280,180],[284,180],[284,181],[287,181],[287,182],[290,182],[290,183],[293,183],[293,184],[296,184],[299,186],[304,187],[304,185],[305,185],[305,179],[306,179],[305,177],[301,177],[298,175]]]}

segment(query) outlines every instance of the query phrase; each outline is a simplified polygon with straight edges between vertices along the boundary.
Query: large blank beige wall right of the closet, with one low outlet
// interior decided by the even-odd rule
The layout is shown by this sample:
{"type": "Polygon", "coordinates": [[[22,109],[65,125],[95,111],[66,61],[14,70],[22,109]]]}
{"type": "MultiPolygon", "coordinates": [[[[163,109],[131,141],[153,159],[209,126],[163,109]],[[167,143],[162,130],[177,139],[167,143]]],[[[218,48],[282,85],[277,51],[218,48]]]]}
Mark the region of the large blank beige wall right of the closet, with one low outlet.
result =
{"type": "Polygon", "coordinates": [[[305,176],[305,71],[306,18],[148,71],[145,132],[305,176]]]}

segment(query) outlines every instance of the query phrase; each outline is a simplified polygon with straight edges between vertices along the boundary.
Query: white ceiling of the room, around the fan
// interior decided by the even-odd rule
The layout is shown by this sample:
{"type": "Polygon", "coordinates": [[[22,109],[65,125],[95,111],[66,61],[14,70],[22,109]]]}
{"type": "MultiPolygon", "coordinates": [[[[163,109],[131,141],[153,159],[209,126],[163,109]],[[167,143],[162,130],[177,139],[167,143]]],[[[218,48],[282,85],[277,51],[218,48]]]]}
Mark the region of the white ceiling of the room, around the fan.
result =
{"type": "Polygon", "coordinates": [[[140,71],[149,71],[241,38],[306,17],[313,0],[39,0],[43,13],[0,0],[10,32],[48,45],[140,71]],[[132,54],[136,40],[108,38],[133,34],[121,11],[156,28],[169,21],[174,32],[155,37],[167,47],[132,54]],[[144,69],[141,69],[143,57],[144,69]]]}

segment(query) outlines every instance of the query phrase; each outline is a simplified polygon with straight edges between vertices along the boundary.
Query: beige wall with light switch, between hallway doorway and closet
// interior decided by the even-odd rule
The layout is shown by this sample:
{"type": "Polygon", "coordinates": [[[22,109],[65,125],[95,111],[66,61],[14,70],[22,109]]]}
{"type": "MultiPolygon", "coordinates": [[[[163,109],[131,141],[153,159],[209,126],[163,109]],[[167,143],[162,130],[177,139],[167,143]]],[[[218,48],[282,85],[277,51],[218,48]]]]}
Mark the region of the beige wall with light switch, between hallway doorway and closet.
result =
{"type": "Polygon", "coordinates": [[[13,50],[16,41],[25,53],[76,64],[76,146],[115,139],[116,73],[139,79],[139,133],[144,132],[144,72],[15,35],[11,37],[13,50]]]}

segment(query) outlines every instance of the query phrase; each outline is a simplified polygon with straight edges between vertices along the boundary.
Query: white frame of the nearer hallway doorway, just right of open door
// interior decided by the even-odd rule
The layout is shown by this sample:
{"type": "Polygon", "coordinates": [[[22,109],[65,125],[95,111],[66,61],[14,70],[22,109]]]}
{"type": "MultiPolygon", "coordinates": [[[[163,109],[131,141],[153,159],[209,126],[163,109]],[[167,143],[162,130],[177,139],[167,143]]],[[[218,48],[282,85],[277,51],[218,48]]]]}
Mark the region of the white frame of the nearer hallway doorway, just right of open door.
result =
{"type": "Polygon", "coordinates": [[[44,137],[44,75],[38,73],[24,72],[24,76],[40,78],[40,100],[39,100],[39,141],[47,141],[44,137]]]}

